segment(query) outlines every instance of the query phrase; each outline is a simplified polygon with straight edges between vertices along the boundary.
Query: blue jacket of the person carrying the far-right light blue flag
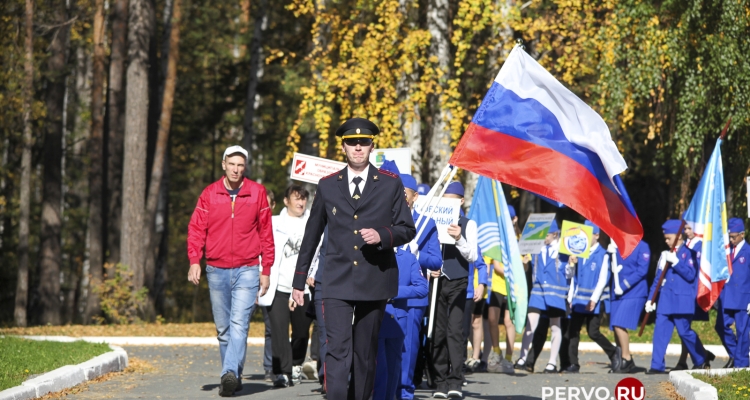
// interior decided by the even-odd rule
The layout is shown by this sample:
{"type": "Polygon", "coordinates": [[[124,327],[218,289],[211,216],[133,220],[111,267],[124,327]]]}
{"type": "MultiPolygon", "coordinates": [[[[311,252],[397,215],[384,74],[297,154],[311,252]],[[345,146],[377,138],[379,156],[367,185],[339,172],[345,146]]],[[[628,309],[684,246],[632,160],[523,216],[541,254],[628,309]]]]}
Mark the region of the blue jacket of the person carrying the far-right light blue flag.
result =
{"type": "MultiPolygon", "coordinates": [[[[664,286],[656,299],[656,313],[662,315],[695,313],[695,297],[698,294],[698,262],[696,253],[684,244],[677,250],[677,264],[671,266],[664,275],[664,286]]],[[[648,298],[654,295],[661,271],[657,269],[656,278],[651,284],[648,298]]]]}

